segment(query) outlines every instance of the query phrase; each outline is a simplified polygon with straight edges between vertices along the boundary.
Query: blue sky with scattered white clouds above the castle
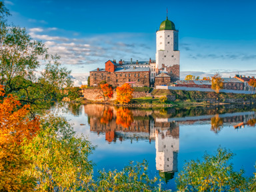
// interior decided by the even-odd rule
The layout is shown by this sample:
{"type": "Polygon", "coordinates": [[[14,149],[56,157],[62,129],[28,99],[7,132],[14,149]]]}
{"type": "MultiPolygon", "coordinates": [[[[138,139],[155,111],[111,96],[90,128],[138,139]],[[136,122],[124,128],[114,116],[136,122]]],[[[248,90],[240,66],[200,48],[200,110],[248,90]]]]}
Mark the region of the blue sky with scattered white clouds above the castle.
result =
{"type": "Polygon", "coordinates": [[[89,71],[105,68],[109,59],[155,59],[167,9],[179,30],[181,79],[216,72],[256,76],[256,0],[4,2],[8,21],[59,54],[75,85],[86,84],[89,71]]]}

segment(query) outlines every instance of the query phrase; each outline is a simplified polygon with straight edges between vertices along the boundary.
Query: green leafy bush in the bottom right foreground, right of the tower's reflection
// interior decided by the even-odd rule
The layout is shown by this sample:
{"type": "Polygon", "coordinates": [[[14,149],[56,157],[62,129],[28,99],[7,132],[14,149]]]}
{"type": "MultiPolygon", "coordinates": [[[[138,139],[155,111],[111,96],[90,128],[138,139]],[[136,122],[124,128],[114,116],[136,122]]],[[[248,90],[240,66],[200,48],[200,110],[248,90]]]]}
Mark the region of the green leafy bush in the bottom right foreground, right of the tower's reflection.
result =
{"type": "Polygon", "coordinates": [[[244,170],[234,171],[229,163],[233,153],[219,147],[215,155],[205,153],[203,161],[191,160],[183,166],[176,184],[180,191],[236,191],[246,190],[244,170]]]}

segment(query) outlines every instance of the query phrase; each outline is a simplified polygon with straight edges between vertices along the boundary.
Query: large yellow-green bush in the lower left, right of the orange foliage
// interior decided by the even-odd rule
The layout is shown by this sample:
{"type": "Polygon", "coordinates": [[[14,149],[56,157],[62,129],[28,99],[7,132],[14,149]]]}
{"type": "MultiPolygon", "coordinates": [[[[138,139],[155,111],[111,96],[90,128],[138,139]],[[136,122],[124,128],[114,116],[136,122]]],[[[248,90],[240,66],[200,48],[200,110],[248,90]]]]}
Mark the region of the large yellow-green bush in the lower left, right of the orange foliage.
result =
{"type": "Polygon", "coordinates": [[[24,145],[24,157],[32,162],[28,176],[35,177],[39,191],[77,191],[92,179],[91,143],[75,136],[71,125],[61,117],[47,114],[41,132],[24,145]]]}

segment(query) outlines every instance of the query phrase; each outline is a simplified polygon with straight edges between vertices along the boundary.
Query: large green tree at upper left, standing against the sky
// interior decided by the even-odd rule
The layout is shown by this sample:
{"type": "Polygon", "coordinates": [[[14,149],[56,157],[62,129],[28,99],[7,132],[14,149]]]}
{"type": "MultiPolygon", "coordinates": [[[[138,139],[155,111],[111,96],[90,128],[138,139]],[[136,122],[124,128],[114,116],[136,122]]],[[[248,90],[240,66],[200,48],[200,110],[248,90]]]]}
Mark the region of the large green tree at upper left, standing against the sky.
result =
{"type": "Polygon", "coordinates": [[[61,68],[59,56],[49,56],[41,41],[33,41],[25,28],[7,25],[3,1],[0,1],[0,84],[6,94],[13,94],[30,110],[49,108],[71,86],[70,71],[61,68]],[[40,76],[35,74],[40,62],[46,64],[40,76]]]}

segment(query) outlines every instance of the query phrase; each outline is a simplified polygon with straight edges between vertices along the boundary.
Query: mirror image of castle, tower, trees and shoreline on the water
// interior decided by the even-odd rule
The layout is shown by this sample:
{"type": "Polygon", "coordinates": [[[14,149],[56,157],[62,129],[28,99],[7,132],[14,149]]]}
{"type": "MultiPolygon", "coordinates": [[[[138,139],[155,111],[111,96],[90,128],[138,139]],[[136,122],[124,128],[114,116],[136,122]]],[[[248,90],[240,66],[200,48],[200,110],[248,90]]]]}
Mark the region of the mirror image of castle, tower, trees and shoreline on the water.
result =
{"type": "MultiPolygon", "coordinates": [[[[90,132],[105,135],[109,144],[127,140],[155,142],[155,167],[167,183],[178,171],[180,126],[210,124],[209,130],[220,134],[225,126],[235,130],[255,126],[253,108],[209,106],[189,109],[117,108],[104,105],[83,106],[90,132]]],[[[217,146],[218,144],[216,144],[217,146]]]]}

